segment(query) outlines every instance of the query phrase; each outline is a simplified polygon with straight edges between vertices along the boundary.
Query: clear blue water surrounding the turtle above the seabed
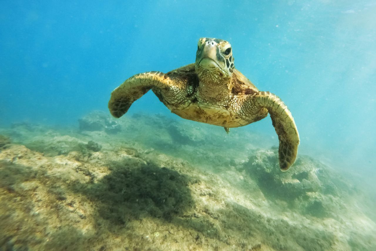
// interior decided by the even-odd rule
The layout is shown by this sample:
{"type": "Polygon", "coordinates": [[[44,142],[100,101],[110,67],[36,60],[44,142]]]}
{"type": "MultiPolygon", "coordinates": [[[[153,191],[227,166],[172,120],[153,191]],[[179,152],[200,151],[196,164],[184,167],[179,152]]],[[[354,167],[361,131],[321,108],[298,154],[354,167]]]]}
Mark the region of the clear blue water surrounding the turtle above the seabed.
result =
{"type": "MultiPolygon", "coordinates": [[[[1,1],[0,124],[72,125],[135,73],[230,41],[235,67],[288,105],[300,153],[376,177],[376,1],[1,1]]],[[[170,114],[147,93],[130,113],[170,114]]],[[[174,115],[169,115],[174,116],[174,115]]],[[[180,119],[180,118],[178,118],[180,119]]],[[[233,129],[236,130],[236,129],[233,129]]],[[[277,139],[270,118],[247,130],[277,139]]]]}

